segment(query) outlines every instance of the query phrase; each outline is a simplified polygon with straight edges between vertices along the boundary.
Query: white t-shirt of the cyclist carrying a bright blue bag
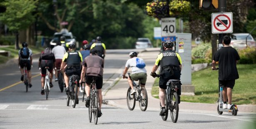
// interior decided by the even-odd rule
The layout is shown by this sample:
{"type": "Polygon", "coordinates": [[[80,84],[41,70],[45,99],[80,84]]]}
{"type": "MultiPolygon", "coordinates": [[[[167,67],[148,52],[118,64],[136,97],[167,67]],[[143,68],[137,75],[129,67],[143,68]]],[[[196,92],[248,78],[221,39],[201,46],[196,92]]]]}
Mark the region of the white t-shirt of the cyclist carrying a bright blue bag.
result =
{"type": "MultiPolygon", "coordinates": [[[[132,67],[132,74],[135,74],[135,73],[147,73],[147,70],[145,69],[145,67],[142,68],[142,69],[136,67],[136,59],[137,58],[138,57],[133,57],[133,58],[127,60],[127,62],[125,64],[125,67],[127,67],[127,68],[132,67]]],[[[143,60],[142,58],[139,58],[139,59],[143,60]]]]}

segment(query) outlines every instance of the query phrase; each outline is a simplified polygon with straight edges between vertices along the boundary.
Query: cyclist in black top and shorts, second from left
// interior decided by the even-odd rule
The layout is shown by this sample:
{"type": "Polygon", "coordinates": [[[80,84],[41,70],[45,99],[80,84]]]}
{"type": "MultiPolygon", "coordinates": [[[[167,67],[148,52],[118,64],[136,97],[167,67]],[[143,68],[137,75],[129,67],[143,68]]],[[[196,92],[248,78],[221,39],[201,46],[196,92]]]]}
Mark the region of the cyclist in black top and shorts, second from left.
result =
{"type": "Polygon", "coordinates": [[[45,50],[41,53],[39,57],[39,63],[38,63],[38,68],[41,70],[41,94],[45,94],[45,75],[46,75],[46,69],[45,67],[49,67],[49,72],[50,72],[50,87],[53,87],[52,84],[52,77],[53,77],[53,68],[56,67],[56,62],[55,62],[55,56],[52,53],[52,50],[50,47],[45,48],[45,50]]]}

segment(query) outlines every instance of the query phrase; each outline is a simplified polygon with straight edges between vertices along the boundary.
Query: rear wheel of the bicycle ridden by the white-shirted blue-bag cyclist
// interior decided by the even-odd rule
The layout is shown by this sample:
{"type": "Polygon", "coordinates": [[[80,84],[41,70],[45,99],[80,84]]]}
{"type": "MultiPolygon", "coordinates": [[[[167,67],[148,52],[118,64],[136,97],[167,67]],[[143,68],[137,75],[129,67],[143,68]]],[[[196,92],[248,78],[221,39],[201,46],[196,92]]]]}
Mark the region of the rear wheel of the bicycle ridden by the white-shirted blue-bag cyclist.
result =
{"type": "Polygon", "coordinates": [[[142,87],[139,90],[139,107],[142,111],[146,111],[147,103],[148,103],[147,90],[142,87]]]}

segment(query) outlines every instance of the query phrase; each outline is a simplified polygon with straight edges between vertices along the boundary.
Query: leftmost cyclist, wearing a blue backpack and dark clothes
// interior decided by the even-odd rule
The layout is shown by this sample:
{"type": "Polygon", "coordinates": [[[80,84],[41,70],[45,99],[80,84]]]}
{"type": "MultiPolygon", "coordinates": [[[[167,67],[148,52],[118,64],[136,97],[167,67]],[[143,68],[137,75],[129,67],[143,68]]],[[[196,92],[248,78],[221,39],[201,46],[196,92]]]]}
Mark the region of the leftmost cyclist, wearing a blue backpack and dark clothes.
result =
{"type": "Polygon", "coordinates": [[[18,52],[19,54],[19,66],[20,66],[20,72],[21,72],[21,77],[20,80],[23,82],[24,81],[24,73],[23,73],[23,68],[26,64],[27,67],[27,73],[28,73],[28,81],[29,81],[29,87],[32,87],[31,84],[31,66],[32,66],[32,50],[27,48],[27,42],[22,42],[22,48],[18,52]]]}

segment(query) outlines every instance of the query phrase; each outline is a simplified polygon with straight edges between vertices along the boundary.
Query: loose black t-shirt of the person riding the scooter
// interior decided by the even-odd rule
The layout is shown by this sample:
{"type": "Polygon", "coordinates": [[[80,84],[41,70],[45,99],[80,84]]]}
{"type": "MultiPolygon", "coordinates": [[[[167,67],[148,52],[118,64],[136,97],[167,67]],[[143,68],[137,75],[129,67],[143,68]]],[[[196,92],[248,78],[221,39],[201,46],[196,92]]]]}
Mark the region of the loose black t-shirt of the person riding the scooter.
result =
{"type": "Polygon", "coordinates": [[[219,80],[238,79],[236,60],[240,60],[238,52],[233,47],[222,47],[213,58],[219,62],[219,80]]]}

